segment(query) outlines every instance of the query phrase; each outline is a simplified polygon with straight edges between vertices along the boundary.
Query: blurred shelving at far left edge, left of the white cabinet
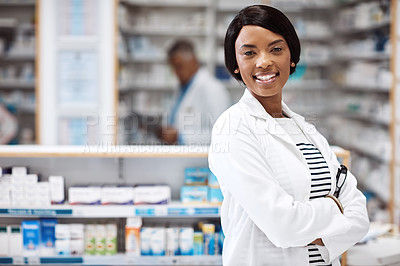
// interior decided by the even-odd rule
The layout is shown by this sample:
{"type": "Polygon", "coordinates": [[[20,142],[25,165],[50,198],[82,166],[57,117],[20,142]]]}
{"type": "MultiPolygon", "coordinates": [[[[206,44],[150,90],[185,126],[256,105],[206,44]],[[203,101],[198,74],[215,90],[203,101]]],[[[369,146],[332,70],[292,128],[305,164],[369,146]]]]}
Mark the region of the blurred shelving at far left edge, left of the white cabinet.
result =
{"type": "Polygon", "coordinates": [[[35,9],[34,0],[0,1],[0,100],[17,118],[17,144],[35,142],[35,9]]]}

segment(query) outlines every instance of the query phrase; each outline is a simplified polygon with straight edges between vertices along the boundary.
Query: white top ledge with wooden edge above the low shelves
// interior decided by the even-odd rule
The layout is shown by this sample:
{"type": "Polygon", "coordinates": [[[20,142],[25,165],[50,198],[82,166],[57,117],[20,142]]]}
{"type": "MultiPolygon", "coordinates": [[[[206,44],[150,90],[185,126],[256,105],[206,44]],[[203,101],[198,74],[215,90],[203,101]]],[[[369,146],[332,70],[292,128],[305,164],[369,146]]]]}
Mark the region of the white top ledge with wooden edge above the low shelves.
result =
{"type": "Polygon", "coordinates": [[[0,157],[207,158],[208,146],[0,145],[0,157]]]}

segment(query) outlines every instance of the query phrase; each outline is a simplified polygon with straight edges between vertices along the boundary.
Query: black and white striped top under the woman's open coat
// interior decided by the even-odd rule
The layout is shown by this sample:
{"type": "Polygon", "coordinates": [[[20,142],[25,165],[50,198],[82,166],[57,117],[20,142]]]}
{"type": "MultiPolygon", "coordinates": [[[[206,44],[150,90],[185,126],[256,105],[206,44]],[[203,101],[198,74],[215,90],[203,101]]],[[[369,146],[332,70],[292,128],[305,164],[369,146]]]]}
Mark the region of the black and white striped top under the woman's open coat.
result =
{"type": "MultiPolygon", "coordinates": [[[[314,146],[304,135],[297,124],[288,118],[276,119],[278,124],[289,134],[289,136],[296,143],[297,148],[303,154],[307,162],[311,174],[311,192],[310,200],[323,198],[328,195],[331,190],[331,177],[324,157],[317,147],[314,146]]],[[[312,266],[331,266],[332,264],[326,263],[319,252],[317,245],[308,245],[309,262],[312,266]]]]}

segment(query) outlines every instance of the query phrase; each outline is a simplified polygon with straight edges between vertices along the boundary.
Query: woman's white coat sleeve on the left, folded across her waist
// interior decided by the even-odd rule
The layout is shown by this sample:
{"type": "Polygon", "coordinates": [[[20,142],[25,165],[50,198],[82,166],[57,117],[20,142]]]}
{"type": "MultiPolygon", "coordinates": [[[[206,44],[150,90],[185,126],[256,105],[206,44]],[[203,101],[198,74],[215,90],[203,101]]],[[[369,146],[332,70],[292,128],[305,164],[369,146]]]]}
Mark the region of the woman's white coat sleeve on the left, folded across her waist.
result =
{"type": "Polygon", "coordinates": [[[333,200],[295,201],[280,187],[265,156],[273,151],[261,148],[244,115],[229,114],[214,126],[209,166],[222,191],[232,195],[275,246],[306,246],[322,235],[333,238],[349,232],[351,223],[333,200]]]}

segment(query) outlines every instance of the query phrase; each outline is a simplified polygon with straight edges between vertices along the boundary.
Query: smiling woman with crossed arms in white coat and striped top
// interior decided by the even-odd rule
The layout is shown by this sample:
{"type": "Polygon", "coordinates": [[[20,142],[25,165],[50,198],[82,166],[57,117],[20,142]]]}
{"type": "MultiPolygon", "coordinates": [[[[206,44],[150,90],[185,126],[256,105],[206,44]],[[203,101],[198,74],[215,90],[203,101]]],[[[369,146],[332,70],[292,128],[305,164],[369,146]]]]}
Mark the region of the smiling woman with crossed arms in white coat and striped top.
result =
{"type": "Polygon", "coordinates": [[[293,25],[272,7],[244,8],[226,32],[226,67],[247,88],[214,125],[209,154],[224,195],[224,265],[336,266],[368,230],[355,177],[332,196],[335,154],[282,102],[299,58],[293,25]]]}

